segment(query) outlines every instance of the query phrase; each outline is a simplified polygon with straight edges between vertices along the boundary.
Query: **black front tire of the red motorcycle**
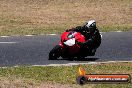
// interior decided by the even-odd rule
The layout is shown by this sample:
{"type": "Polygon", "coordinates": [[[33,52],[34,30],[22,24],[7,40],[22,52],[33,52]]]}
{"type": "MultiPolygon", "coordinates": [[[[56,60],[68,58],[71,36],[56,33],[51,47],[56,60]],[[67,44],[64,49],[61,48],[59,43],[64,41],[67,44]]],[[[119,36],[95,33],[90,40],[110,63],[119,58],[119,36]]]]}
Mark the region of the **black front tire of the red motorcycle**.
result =
{"type": "Polygon", "coordinates": [[[49,60],[57,60],[60,57],[61,46],[56,45],[49,53],[49,60]]]}

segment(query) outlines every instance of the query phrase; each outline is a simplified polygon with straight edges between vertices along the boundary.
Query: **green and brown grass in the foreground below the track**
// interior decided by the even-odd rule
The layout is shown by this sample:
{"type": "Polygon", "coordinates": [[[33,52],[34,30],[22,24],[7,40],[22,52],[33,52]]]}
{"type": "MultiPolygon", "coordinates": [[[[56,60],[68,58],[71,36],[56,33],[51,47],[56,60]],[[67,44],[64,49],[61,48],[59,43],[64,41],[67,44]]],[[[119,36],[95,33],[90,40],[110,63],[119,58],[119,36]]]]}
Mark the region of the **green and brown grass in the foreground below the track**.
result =
{"type": "MultiPolygon", "coordinates": [[[[78,75],[77,66],[18,66],[0,68],[0,87],[37,87],[45,83],[70,85],[80,87],[76,84],[78,75]],[[8,84],[8,85],[7,85],[8,84]]],[[[132,63],[109,63],[82,65],[87,74],[130,74],[132,76],[132,63]]],[[[83,88],[131,88],[128,84],[86,84],[83,88]]]]}

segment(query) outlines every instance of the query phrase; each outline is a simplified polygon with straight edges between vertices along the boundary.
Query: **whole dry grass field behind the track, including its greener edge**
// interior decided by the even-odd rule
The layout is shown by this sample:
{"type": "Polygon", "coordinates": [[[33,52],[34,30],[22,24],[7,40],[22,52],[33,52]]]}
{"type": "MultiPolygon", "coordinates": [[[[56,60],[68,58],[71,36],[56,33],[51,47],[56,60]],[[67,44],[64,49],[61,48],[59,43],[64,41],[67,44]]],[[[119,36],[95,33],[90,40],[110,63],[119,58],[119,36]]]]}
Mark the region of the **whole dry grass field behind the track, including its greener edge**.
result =
{"type": "Polygon", "coordinates": [[[100,31],[131,31],[132,0],[1,0],[0,35],[60,34],[95,19],[100,31]]]}

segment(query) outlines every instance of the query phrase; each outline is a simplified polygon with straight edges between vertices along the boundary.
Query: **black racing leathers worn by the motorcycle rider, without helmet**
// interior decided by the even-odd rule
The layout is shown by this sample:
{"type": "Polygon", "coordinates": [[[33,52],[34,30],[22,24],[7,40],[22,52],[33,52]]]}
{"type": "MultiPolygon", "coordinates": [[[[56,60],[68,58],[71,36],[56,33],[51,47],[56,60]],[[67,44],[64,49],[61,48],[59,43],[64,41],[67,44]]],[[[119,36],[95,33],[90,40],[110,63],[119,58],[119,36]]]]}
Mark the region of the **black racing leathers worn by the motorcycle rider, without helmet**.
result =
{"type": "Polygon", "coordinates": [[[98,28],[89,30],[90,31],[88,31],[88,29],[83,26],[77,26],[76,28],[69,29],[68,31],[80,32],[86,38],[86,42],[82,44],[82,48],[85,48],[89,51],[92,51],[94,49],[96,51],[96,49],[101,44],[101,35],[99,33],[98,28]]]}

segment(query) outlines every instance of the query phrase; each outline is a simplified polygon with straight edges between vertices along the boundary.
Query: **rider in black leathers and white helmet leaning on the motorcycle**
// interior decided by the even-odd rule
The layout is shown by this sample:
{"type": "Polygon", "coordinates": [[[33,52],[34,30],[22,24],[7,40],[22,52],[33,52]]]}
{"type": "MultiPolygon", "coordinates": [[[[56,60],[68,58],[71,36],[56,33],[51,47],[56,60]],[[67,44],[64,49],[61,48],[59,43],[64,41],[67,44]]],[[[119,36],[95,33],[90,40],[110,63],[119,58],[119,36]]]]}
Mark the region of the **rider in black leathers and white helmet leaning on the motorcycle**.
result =
{"type": "Polygon", "coordinates": [[[96,21],[87,21],[83,26],[77,26],[76,28],[68,29],[66,31],[80,32],[86,38],[86,42],[78,44],[81,46],[82,54],[95,55],[96,49],[101,44],[101,35],[96,27],[96,21]]]}

